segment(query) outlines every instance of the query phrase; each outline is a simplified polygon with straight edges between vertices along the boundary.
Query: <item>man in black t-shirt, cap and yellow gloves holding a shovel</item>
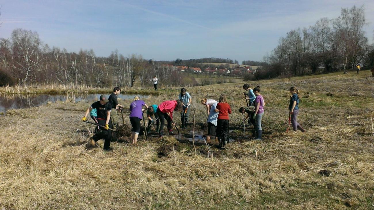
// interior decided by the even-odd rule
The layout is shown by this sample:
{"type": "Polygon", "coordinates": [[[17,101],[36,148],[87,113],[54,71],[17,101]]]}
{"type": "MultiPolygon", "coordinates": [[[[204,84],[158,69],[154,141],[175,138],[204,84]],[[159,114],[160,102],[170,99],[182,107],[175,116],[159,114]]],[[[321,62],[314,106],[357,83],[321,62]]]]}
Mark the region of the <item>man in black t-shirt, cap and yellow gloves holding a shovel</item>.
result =
{"type": "Polygon", "coordinates": [[[110,113],[112,110],[112,106],[107,101],[106,96],[101,95],[100,101],[96,101],[86,110],[86,114],[82,118],[82,121],[87,120],[87,115],[92,109],[96,109],[98,124],[101,126],[105,126],[105,129],[100,128],[100,131],[91,137],[90,144],[91,146],[95,146],[96,145],[95,142],[104,138],[104,149],[107,151],[110,151],[111,150],[110,138],[111,138],[112,132],[111,130],[109,130],[109,128],[112,128],[111,120],[110,120],[110,113]]]}

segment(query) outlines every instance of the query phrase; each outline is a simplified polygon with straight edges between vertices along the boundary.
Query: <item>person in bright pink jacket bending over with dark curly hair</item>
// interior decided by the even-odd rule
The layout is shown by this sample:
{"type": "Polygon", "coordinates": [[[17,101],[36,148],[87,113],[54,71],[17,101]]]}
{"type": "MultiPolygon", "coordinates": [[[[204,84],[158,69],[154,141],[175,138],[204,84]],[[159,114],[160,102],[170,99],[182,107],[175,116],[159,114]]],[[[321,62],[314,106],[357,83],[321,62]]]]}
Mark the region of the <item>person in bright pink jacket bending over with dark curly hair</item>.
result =
{"type": "Polygon", "coordinates": [[[171,129],[171,124],[175,126],[175,123],[171,123],[173,120],[173,111],[180,112],[183,110],[183,103],[181,100],[177,101],[164,101],[157,108],[157,114],[160,117],[160,130],[159,137],[163,135],[163,126],[165,124],[165,119],[168,121],[168,131],[169,135],[174,135],[173,130],[171,129]]]}

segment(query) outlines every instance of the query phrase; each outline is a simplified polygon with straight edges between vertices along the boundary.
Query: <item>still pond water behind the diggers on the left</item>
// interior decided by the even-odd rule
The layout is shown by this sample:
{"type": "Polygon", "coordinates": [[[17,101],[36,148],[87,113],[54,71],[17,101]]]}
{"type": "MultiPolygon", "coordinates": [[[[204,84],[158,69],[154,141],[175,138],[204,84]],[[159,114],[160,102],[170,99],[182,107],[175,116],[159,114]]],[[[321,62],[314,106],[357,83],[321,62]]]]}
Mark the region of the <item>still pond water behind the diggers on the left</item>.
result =
{"type": "MultiPolygon", "coordinates": [[[[31,108],[34,106],[40,106],[47,104],[47,102],[56,101],[98,101],[98,98],[102,94],[68,94],[68,95],[48,95],[48,94],[35,94],[35,95],[0,95],[0,112],[6,112],[9,109],[22,109],[31,108]]],[[[138,95],[141,98],[147,98],[144,95],[138,95]]],[[[107,95],[109,97],[109,94],[107,95]]],[[[131,94],[119,94],[119,99],[133,99],[135,95],[131,94]]]]}

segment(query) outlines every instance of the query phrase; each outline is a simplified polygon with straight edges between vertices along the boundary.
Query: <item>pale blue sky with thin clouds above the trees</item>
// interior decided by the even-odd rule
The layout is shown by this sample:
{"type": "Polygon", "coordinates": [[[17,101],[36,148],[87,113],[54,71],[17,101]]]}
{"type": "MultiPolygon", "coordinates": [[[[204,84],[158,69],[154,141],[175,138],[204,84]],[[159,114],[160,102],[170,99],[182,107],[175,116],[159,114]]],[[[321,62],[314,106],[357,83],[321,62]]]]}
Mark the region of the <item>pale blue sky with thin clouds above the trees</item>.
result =
{"type": "Polygon", "coordinates": [[[364,5],[373,43],[373,0],[0,0],[0,38],[22,28],[50,47],[93,49],[96,56],[118,49],[157,61],[261,61],[290,30],[354,5],[364,5]]]}

